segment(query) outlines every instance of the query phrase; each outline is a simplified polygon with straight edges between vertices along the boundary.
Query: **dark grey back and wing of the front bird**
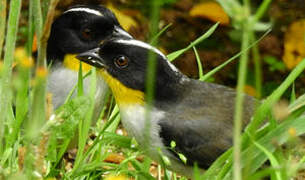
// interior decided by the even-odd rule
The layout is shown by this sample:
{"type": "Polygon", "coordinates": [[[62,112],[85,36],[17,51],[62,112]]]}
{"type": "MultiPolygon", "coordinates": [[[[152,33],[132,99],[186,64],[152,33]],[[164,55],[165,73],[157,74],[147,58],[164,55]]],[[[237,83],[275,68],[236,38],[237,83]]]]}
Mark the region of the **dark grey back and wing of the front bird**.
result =
{"type": "MultiPolygon", "coordinates": [[[[190,82],[194,87],[184,98],[171,105],[159,122],[163,143],[176,142],[175,151],[192,165],[207,168],[232,146],[235,91],[216,84],[190,82]],[[200,86],[200,88],[199,88],[200,86]]],[[[250,121],[255,102],[245,95],[244,126],[250,121]]]]}

